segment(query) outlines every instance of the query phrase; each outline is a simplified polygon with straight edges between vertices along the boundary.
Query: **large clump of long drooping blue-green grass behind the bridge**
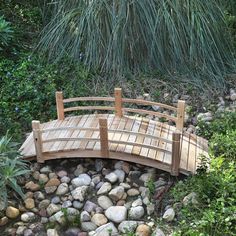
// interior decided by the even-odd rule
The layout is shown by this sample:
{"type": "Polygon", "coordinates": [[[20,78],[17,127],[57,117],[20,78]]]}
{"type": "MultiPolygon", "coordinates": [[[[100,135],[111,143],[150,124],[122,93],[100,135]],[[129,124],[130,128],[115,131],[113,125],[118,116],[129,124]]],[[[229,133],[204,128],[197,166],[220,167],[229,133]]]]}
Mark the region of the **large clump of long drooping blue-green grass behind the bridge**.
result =
{"type": "Polygon", "coordinates": [[[159,70],[195,86],[221,83],[235,64],[219,2],[60,0],[39,49],[107,73],[159,70]]]}

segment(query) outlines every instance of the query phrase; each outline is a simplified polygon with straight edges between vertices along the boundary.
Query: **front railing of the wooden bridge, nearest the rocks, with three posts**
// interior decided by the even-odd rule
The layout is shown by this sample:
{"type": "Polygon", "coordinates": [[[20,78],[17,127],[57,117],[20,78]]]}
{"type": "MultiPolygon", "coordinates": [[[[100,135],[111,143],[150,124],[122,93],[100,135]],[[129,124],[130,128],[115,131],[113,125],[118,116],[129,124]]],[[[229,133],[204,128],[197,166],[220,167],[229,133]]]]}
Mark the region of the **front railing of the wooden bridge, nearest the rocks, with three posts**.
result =
{"type": "MultiPolygon", "coordinates": [[[[172,175],[177,176],[179,174],[179,165],[180,165],[180,138],[181,133],[179,131],[176,131],[172,135],[172,141],[161,138],[158,136],[145,134],[141,132],[133,132],[133,131],[127,131],[127,130],[116,130],[116,129],[108,129],[107,125],[107,119],[106,118],[99,118],[99,127],[77,127],[77,126],[69,126],[69,127],[58,127],[58,128],[41,128],[39,121],[32,121],[32,128],[33,128],[33,137],[34,137],[34,143],[35,143],[35,150],[36,150],[36,156],[38,162],[44,162],[44,153],[48,150],[45,150],[44,145],[46,143],[52,143],[52,142],[60,142],[60,141],[88,141],[88,142],[100,142],[100,153],[101,157],[107,157],[109,158],[110,155],[110,144],[123,144],[123,145],[132,145],[133,147],[140,147],[140,148],[148,148],[153,149],[156,151],[161,151],[164,153],[171,154],[172,162],[170,166],[170,172],[172,175]],[[48,132],[55,132],[55,131],[63,131],[63,130],[79,130],[79,131],[94,131],[99,132],[98,138],[86,138],[86,137],[57,137],[57,138],[43,138],[44,133],[48,132]],[[172,149],[167,150],[166,148],[158,147],[157,145],[149,145],[149,144],[143,144],[138,142],[130,142],[130,141],[122,141],[122,140],[113,140],[109,139],[109,133],[127,133],[129,135],[136,135],[148,137],[153,140],[159,140],[165,143],[169,143],[172,145],[172,149]]],[[[147,160],[148,161],[148,160],[147,160]]]]}

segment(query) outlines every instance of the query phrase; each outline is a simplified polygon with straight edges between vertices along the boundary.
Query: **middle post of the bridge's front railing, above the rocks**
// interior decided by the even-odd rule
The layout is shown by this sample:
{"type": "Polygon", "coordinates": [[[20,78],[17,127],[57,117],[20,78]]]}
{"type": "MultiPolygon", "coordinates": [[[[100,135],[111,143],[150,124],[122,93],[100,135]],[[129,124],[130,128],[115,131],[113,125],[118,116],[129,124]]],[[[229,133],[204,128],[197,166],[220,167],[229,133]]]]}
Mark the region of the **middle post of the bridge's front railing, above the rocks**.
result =
{"type": "Polygon", "coordinates": [[[99,131],[100,131],[101,156],[109,157],[108,130],[107,130],[106,118],[99,119],[99,131]]]}

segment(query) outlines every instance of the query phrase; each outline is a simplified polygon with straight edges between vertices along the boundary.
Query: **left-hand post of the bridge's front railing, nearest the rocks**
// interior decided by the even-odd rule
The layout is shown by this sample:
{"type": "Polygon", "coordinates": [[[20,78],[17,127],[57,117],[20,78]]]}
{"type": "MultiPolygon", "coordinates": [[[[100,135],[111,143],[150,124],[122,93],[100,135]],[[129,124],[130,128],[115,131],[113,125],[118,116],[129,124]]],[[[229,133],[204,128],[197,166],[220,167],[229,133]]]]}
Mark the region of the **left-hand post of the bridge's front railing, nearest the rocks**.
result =
{"type": "Polygon", "coordinates": [[[40,130],[40,122],[38,120],[32,121],[33,137],[37,162],[44,163],[43,160],[43,143],[42,143],[42,132],[40,130]]]}

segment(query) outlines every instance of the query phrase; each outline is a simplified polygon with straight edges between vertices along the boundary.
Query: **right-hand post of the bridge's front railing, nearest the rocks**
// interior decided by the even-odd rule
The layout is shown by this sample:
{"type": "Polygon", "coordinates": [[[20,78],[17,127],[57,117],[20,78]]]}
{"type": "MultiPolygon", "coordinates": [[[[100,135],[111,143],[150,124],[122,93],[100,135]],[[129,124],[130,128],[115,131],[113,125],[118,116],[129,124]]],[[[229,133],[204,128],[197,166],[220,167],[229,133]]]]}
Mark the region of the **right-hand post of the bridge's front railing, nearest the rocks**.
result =
{"type": "Polygon", "coordinates": [[[180,136],[179,131],[175,131],[172,134],[172,162],[171,162],[171,175],[179,175],[180,165],[180,136]]]}

